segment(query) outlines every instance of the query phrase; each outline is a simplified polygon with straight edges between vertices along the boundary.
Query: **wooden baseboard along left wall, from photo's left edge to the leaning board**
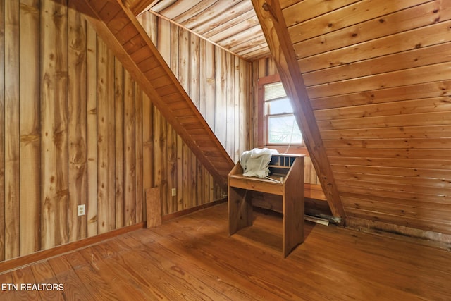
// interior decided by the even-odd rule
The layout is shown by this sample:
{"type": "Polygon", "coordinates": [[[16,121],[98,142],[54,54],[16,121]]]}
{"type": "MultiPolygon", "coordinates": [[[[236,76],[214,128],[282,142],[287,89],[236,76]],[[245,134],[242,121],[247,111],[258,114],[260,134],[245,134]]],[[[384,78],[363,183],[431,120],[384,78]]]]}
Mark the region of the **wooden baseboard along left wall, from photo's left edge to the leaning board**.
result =
{"type": "Polygon", "coordinates": [[[73,252],[75,250],[81,249],[83,247],[87,247],[89,245],[94,245],[104,240],[108,240],[110,238],[114,238],[118,235],[128,233],[131,231],[135,231],[138,229],[144,228],[144,222],[137,223],[132,226],[123,227],[120,229],[116,229],[107,233],[102,233],[96,236],[92,236],[91,238],[83,238],[82,240],[78,240],[75,242],[70,242],[66,245],[60,245],[58,247],[53,247],[49,250],[42,250],[33,254],[25,255],[22,257],[16,257],[13,259],[8,259],[5,262],[0,262],[0,273],[5,271],[11,271],[14,269],[18,269],[22,266],[27,266],[28,264],[32,264],[34,262],[40,262],[44,259],[49,259],[51,257],[56,257],[61,254],[66,254],[68,252],[73,252]]]}

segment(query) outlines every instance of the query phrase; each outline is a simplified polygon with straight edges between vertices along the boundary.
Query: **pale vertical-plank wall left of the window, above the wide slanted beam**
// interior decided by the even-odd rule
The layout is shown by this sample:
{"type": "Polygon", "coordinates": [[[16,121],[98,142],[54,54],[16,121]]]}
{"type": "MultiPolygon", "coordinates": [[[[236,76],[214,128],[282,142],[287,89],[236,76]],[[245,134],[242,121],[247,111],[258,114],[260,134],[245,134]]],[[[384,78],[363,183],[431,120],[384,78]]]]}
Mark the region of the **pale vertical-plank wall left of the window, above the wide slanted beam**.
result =
{"type": "Polygon", "coordinates": [[[250,63],[149,11],[137,17],[233,161],[249,148],[250,63]]]}

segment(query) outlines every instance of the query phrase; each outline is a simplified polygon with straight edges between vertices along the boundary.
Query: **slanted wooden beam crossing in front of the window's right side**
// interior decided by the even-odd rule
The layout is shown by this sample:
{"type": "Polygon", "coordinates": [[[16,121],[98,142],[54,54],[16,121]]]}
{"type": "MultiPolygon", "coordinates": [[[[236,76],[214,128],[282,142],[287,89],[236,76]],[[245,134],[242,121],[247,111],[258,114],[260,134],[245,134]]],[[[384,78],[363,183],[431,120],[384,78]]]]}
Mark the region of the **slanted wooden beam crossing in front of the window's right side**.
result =
{"type": "Polygon", "coordinates": [[[309,150],[311,162],[314,164],[318,174],[330,210],[337,222],[344,224],[346,218],[345,210],[338,194],[332,168],[323,146],[279,1],[252,0],[252,4],[259,18],[271,54],[276,62],[280,80],[288,97],[291,99],[297,123],[302,130],[302,137],[309,150]]]}

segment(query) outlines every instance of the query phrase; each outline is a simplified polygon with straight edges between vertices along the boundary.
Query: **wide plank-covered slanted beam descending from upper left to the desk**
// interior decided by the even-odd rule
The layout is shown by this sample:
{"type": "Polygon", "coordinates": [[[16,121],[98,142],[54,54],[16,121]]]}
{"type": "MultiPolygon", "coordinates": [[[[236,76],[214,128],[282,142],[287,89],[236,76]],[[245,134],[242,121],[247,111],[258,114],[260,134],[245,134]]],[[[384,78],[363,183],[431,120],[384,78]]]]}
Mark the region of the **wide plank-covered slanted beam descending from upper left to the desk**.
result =
{"type": "MultiPolygon", "coordinates": [[[[233,160],[171,68],[121,0],[71,1],[149,96],[197,159],[223,188],[233,160]]],[[[146,116],[144,116],[146,118],[146,116]]]]}

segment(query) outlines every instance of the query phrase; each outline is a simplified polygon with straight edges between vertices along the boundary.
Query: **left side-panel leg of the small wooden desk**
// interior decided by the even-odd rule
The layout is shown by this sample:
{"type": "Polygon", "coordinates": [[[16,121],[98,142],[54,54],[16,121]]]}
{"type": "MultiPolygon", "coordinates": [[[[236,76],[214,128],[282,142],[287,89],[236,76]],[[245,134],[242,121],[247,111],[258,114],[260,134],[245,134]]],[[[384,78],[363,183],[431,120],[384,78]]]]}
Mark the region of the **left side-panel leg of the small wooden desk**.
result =
{"type": "Polygon", "coordinates": [[[252,225],[252,204],[246,189],[228,188],[228,235],[252,225]]]}

